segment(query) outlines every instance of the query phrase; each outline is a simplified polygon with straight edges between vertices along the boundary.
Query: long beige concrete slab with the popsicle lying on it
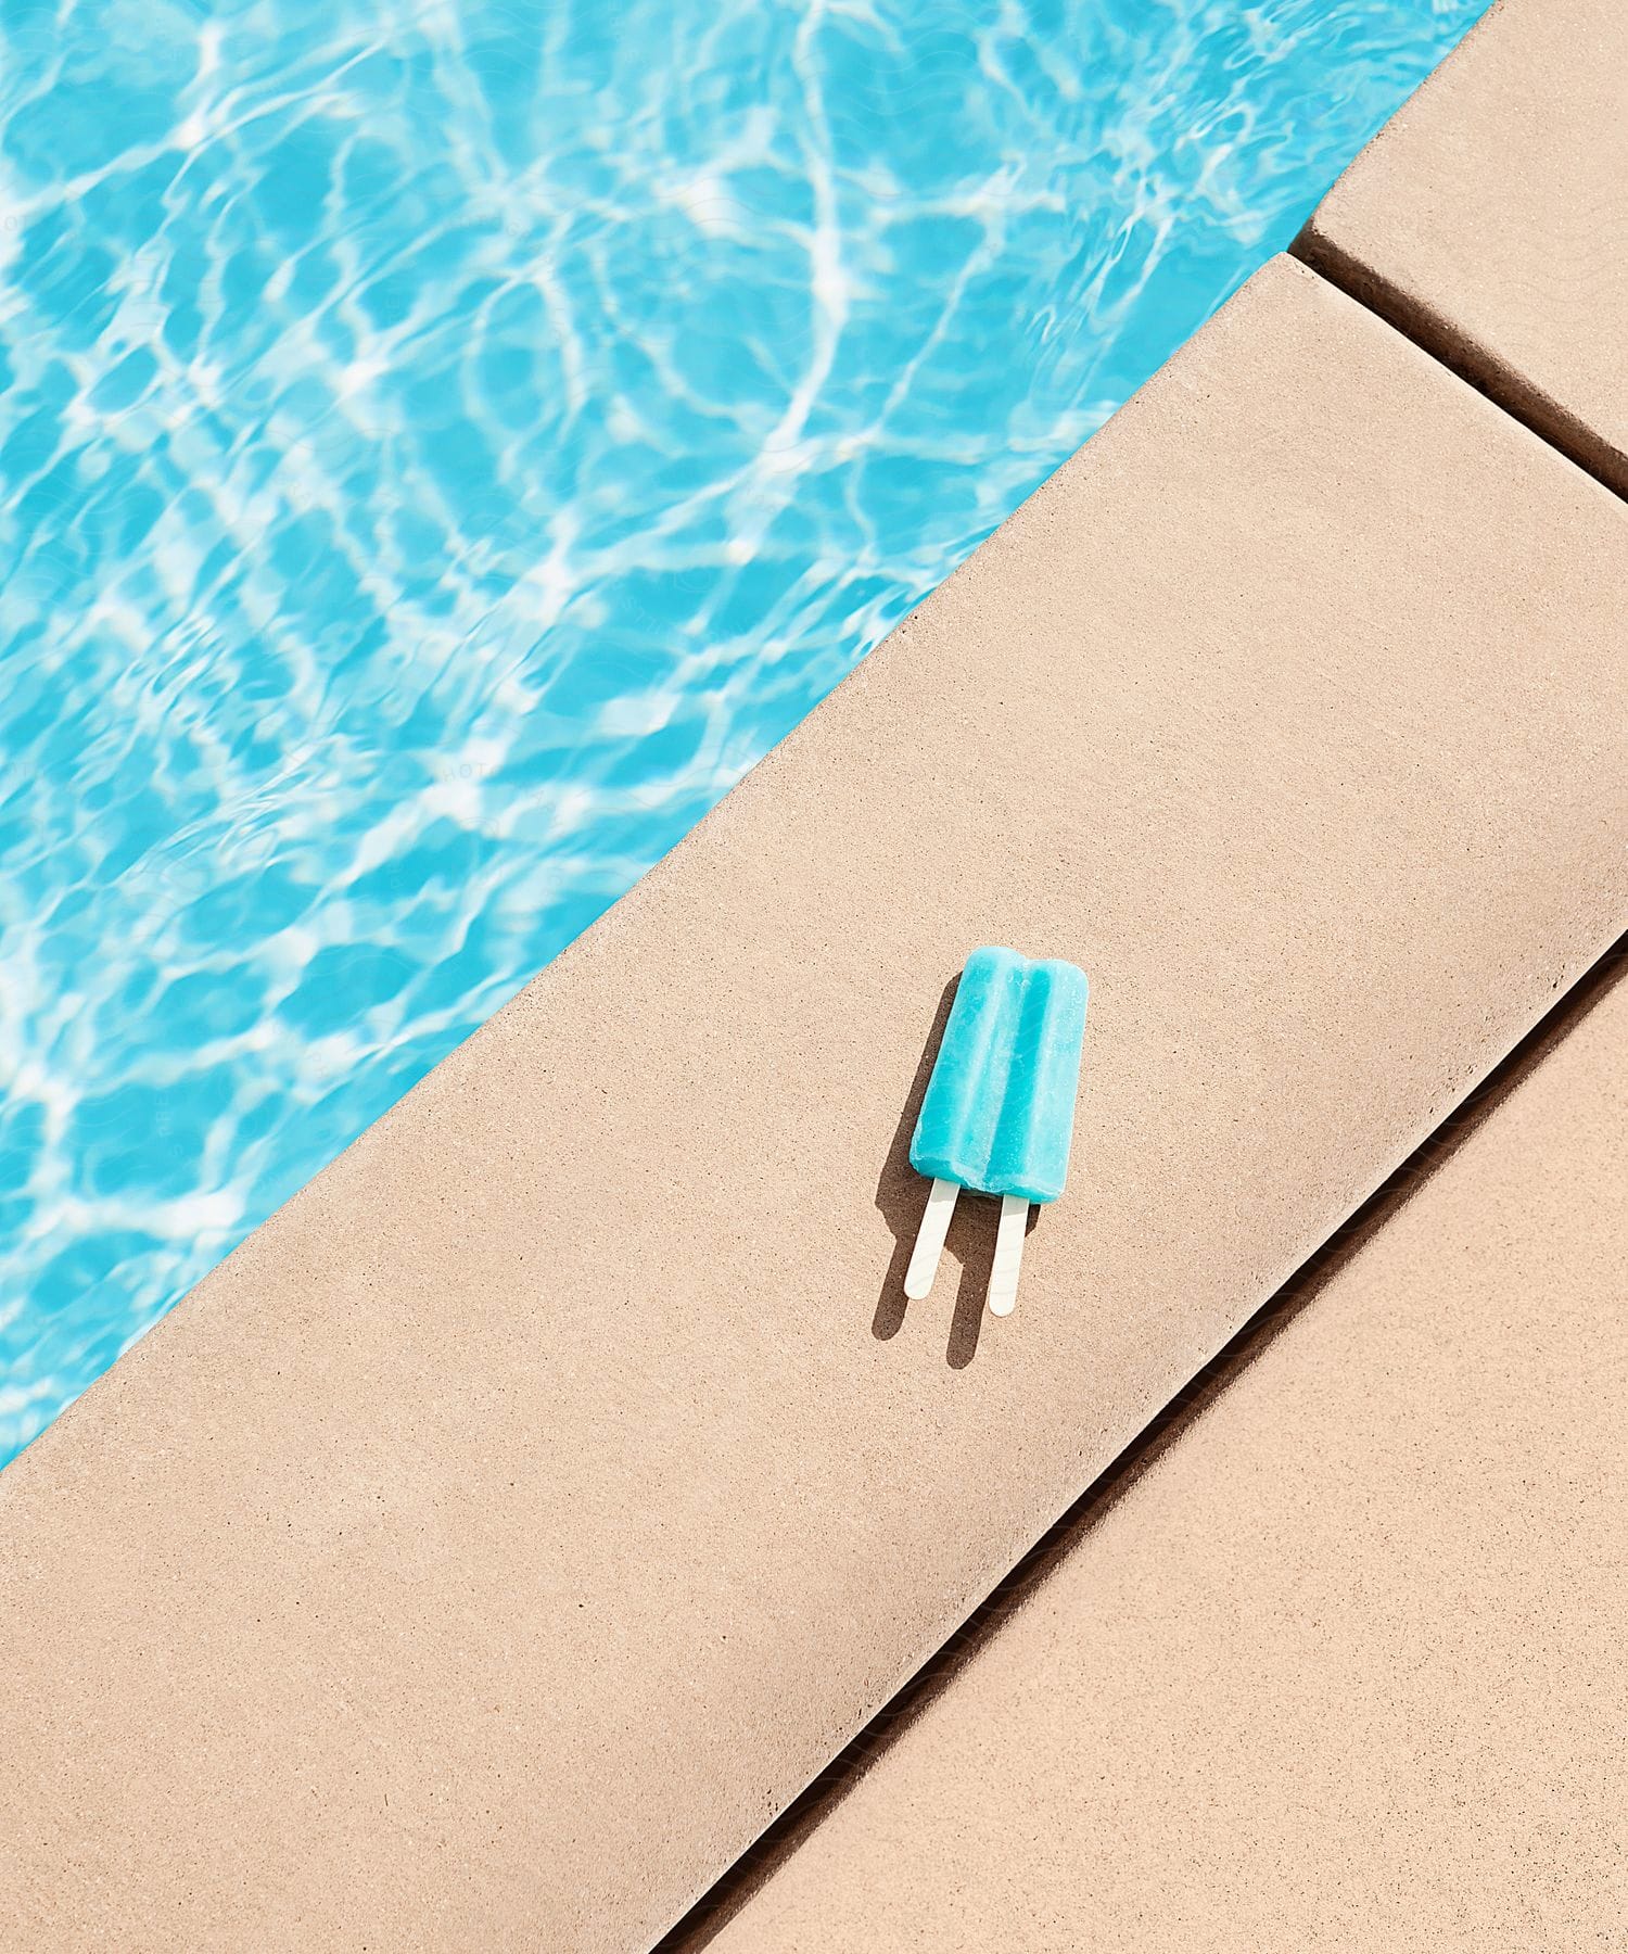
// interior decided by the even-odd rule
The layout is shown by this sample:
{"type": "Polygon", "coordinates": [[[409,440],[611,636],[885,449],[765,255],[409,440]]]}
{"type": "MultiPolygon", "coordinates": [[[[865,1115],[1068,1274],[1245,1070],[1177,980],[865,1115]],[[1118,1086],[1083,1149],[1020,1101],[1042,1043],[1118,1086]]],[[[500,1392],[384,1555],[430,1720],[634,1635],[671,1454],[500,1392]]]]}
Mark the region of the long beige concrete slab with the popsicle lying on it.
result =
{"type": "Polygon", "coordinates": [[[1268,266],[0,1475],[0,1933],[631,1948],[1628,911],[1628,510],[1268,266]],[[965,952],[1077,1182],[901,1309],[965,952]]]}

